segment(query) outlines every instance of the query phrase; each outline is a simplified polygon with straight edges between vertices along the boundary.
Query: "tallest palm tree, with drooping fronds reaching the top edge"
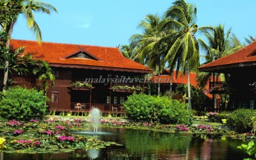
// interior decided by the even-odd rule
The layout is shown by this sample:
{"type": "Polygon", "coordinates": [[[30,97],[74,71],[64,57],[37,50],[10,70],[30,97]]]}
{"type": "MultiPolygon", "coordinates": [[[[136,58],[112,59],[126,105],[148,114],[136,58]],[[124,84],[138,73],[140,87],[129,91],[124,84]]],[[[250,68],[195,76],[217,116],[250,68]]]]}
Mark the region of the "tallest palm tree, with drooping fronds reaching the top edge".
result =
{"type": "Polygon", "coordinates": [[[188,102],[191,107],[191,93],[189,73],[199,67],[199,45],[196,39],[197,31],[207,31],[210,26],[198,27],[196,24],[196,6],[186,3],[185,0],[177,0],[165,13],[166,20],[161,24],[162,28],[173,28],[175,32],[166,35],[162,40],[171,40],[166,60],[168,63],[176,63],[177,71],[188,75],[188,102]]]}

